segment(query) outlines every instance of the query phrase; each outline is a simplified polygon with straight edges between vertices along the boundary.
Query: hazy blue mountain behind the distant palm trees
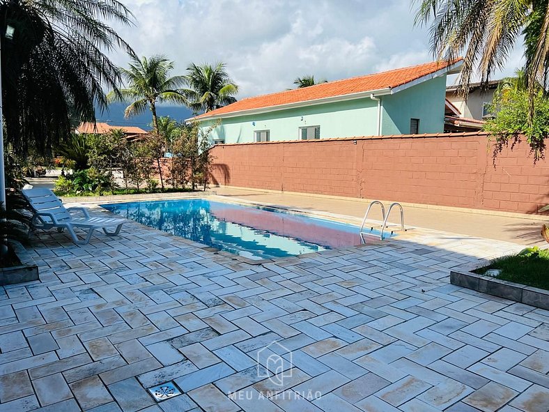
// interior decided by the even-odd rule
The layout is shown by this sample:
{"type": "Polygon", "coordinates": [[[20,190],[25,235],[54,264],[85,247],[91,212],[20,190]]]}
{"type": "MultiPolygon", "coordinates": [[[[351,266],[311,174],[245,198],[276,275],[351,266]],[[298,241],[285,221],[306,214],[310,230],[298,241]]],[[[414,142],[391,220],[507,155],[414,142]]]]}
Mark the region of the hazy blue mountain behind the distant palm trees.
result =
{"type": "MultiPolygon", "coordinates": [[[[151,128],[150,123],[153,122],[153,116],[150,114],[150,110],[146,110],[146,112],[139,116],[124,119],[124,109],[126,107],[127,105],[124,103],[113,103],[109,106],[108,112],[101,113],[98,110],[96,112],[97,121],[116,126],[138,126],[145,130],[151,128]]],[[[192,112],[183,106],[157,106],[156,112],[158,116],[170,116],[171,119],[175,119],[176,121],[184,121],[192,117],[192,112]]]]}

